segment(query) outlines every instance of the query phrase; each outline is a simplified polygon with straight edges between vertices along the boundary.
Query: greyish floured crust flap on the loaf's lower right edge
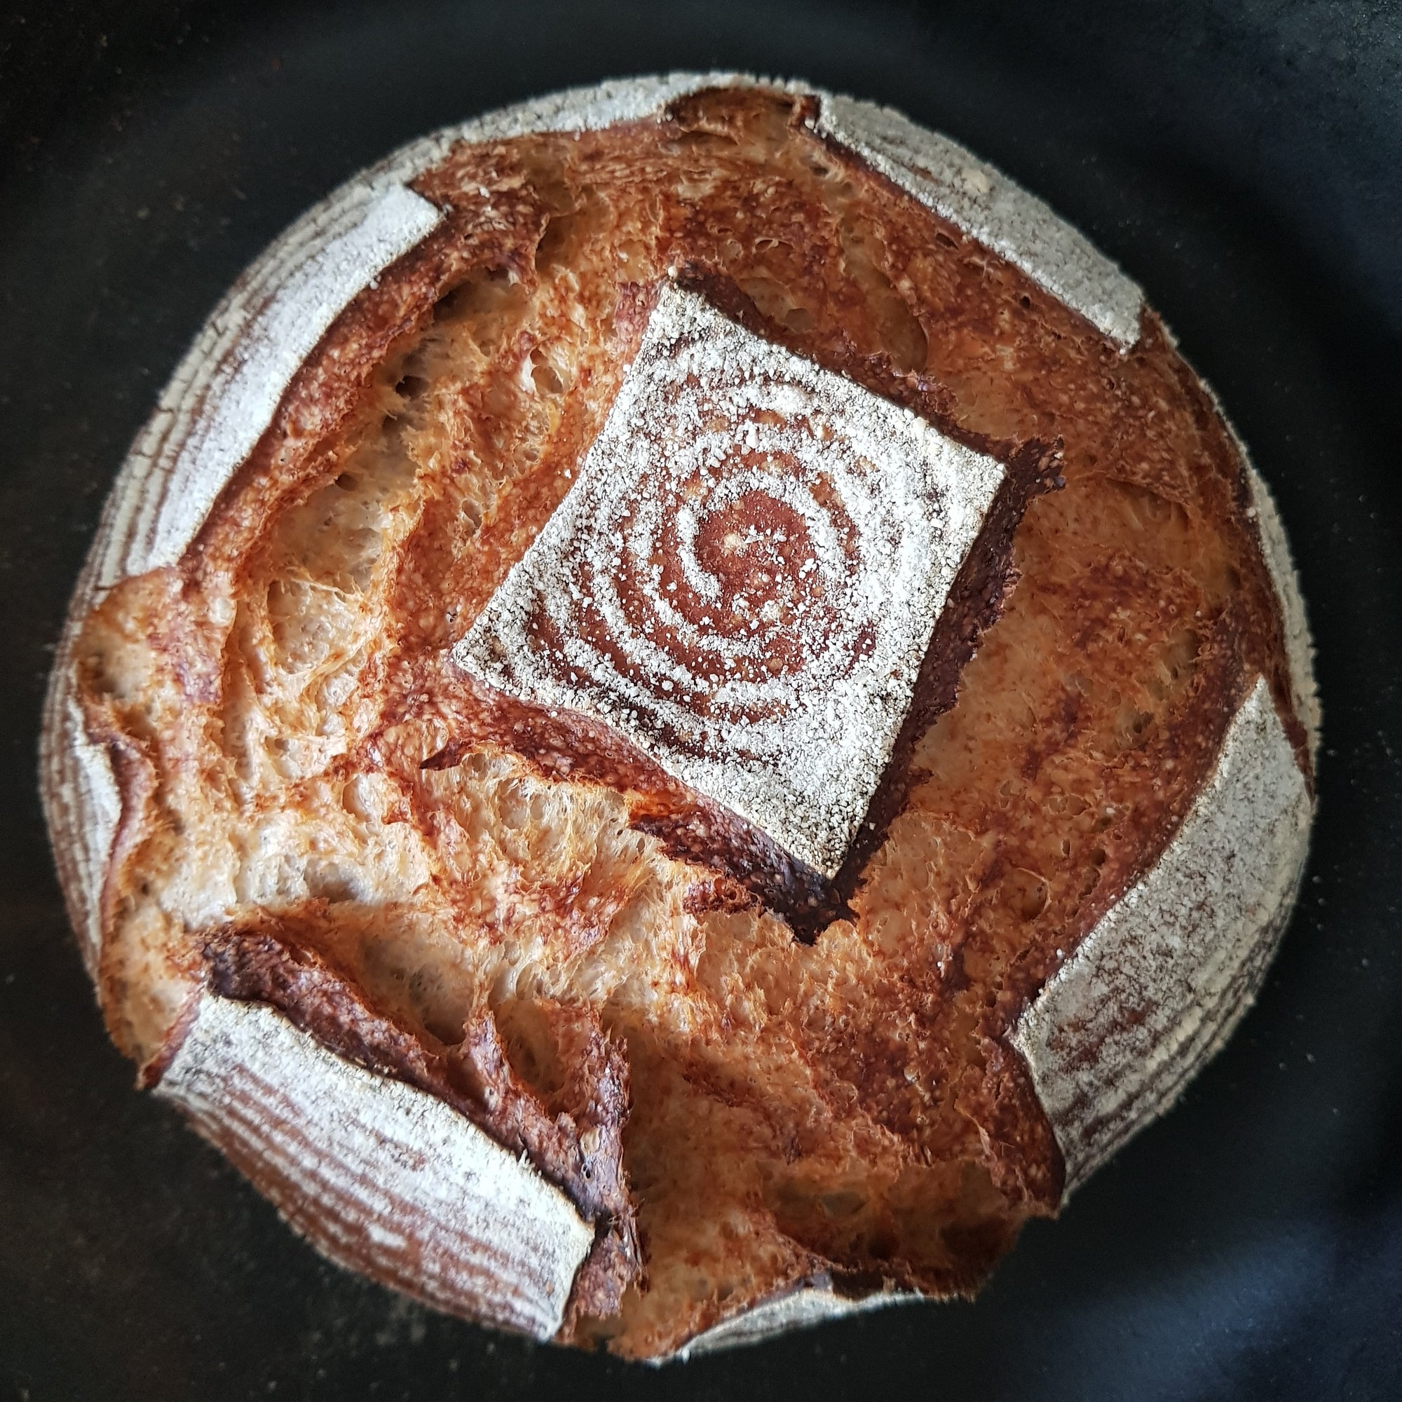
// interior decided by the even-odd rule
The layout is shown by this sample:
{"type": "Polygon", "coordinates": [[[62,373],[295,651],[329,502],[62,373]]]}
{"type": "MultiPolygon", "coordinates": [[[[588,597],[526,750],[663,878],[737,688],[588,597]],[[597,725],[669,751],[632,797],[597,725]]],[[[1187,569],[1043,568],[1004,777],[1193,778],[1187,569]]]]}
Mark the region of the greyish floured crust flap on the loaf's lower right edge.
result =
{"type": "Polygon", "coordinates": [[[1172,1105],[1251,1005],[1294,906],[1311,817],[1259,680],[1178,836],[1011,1035],[1061,1145],[1068,1193],[1172,1105]]]}

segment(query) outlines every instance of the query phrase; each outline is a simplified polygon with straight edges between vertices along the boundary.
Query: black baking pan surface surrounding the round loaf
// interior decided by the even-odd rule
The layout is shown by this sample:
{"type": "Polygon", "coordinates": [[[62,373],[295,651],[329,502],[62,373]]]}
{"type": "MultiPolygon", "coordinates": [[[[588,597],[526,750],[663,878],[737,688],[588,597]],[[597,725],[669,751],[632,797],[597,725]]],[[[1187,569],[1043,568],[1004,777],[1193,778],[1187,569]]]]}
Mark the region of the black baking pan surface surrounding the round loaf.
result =
{"type": "Polygon", "coordinates": [[[1399,74],[1388,3],[3,7],[0,1398],[1402,1396],[1399,74]],[[1305,897],[1258,1007],[976,1304],[659,1373],[342,1274],[133,1092],[34,765],[102,496],[238,271],[435,126],[709,66],[904,108],[1145,286],[1279,496],[1326,749],[1305,897]]]}

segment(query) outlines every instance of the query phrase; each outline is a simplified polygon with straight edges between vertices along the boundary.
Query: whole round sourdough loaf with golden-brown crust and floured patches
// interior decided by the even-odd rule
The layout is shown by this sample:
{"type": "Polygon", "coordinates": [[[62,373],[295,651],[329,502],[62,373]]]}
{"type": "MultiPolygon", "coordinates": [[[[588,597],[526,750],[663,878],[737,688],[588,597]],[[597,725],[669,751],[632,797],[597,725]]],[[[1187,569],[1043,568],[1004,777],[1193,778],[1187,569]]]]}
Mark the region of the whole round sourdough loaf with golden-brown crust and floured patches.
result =
{"type": "Polygon", "coordinates": [[[42,784],[114,1039],[297,1231],[659,1359],[976,1290],[1251,1002],[1316,735],[1138,289],[894,112],[683,74],[244,275],[42,784]]]}

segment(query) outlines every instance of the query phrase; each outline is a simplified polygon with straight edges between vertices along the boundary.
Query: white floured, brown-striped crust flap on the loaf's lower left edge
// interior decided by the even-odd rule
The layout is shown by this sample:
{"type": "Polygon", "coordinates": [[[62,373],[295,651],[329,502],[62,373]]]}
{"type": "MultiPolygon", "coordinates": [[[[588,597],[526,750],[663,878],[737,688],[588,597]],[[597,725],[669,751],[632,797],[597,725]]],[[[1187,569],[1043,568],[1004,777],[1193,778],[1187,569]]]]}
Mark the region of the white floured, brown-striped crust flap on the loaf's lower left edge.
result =
{"type": "Polygon", "coordinates": [[[435,1096],[213,994],[156,1094],[339,1265],[540,1339],[559,1329],[593,1228],[435,1096]]]}

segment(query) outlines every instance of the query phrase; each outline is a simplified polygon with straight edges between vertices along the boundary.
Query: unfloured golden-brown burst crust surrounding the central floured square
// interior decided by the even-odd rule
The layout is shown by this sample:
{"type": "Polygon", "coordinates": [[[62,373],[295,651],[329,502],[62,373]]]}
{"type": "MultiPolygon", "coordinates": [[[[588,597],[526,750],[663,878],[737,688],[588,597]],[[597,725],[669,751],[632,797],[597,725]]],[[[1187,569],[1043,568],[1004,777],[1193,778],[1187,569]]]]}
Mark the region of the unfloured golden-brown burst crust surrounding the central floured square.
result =
{"type": "MultiPolygon", "coordinates": [[[[119,1044],[163,1054],[219,931],[334,967],[411,1059],[499,1047],[523,1151],[600,1227],[571,1336],[628,1354],[815,1279],[974,1288],[1063,1187],[1005,1033],[1154,864],[1258,676],[1308,765],[1242,463],[1155,318],[1122,355],[810,115],[701,93],[451,151],[415,182],[437,229],[332,324],[179,565],[76,649],[125,799],[119,1044]],[[1063,443],[854,918],[812,946],[568,749],[512,753],[446,658],[568,489],[638,289],[680,262],[990,451],[1063,443]],[[599,1145],[583,1046],[631,1081],[613,1206],[566,1171],[599,1145]]],[[[453,1085],[491,1127],[489,1078],[453,1085]]]]}

